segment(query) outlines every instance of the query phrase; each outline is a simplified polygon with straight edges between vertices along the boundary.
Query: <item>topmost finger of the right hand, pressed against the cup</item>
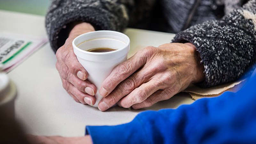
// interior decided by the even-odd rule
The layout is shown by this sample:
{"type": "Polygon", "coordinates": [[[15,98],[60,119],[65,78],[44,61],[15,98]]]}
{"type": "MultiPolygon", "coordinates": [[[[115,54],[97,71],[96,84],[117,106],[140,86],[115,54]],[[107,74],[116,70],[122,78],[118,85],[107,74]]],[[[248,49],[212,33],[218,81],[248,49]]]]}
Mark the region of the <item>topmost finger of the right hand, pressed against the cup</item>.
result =
{"type": "Polygon", "coordinates": [[[130,59],[122,62],[116,66],[110,75],[105,79],[100,88],[100,95],[106,97],[110,92],[112,92],[116,86],[122,82],[124,79],[132,75],[136,70],[141,68],[147,62],[147,59],[156,50],[155,47],[148,47],[140,52],[137,52],[130,59]]]}

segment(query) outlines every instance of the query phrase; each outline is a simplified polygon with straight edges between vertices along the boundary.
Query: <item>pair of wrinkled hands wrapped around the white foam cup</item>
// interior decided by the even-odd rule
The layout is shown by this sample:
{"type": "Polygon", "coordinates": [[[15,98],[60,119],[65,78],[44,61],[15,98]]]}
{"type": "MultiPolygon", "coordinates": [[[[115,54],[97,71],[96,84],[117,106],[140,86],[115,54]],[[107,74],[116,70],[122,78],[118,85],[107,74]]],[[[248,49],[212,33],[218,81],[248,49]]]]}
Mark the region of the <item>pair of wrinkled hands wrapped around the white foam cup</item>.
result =
{"type": "MultiPolygon", "coordinates": [[[[96,86],[86,80],[88,73],[78,62],[72,47],[76,36],[90,31],[94,28],[88,23],[78,23],[72,29],[66,43],[56,53],[56,68],[63,87],[76,102],[94,105],[96,86]]],[[[98,108],[105,111],[117,103],[124,108],[140,109],[170,99],[189,84],[204,80],[200,60],[191,43],[148,46],[113,69],[100,88],[104,98],[98,108]]]]}

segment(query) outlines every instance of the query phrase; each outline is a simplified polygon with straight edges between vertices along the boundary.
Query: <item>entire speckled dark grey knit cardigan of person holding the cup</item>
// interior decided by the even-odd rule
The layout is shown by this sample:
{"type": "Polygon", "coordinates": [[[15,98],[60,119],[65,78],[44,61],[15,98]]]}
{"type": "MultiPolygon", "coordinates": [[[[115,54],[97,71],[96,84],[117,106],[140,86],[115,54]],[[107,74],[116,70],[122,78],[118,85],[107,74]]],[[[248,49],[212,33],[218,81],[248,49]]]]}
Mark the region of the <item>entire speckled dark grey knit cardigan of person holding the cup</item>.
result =
{"type": "Polygon", "coordinates": [[[255,1],[52,0],[45,23],[54,52],[76,21],[91,23],[96,30],[129,26],[180,32],[173,42],[196,45],[206,76],[201,86],[208,87],[237,79],[255,63],[255,1]]]}

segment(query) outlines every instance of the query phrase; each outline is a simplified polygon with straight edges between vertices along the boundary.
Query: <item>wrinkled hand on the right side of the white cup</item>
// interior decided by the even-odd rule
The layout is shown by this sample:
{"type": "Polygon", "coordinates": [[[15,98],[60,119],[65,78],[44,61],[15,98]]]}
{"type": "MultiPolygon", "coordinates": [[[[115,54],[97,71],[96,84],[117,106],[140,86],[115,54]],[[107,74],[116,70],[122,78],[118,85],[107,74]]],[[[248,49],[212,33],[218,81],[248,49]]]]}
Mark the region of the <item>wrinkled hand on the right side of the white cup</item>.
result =
{"type": "Polygon", "coordinates": [[[100,88],[101,111],[114,104],[140,109],[170,99],[204,80],[204,66],[193,44],[149,46],[116,66],[100,88]]]}

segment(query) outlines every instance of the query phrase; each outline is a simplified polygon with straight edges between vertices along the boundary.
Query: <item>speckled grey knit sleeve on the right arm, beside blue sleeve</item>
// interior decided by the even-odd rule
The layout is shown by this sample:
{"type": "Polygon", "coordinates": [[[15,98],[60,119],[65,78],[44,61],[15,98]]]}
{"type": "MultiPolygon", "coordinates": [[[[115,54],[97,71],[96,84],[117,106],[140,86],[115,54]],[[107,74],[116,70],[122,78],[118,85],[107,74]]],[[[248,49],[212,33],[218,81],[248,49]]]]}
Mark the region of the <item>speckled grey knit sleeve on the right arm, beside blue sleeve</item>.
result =
{"type": "Polygon", "coordinates": [[[256,62],[256,0],[224,16],[178,33],[172,42],[191,42],[200,53],[210,87],[231,82],[256,62]]]}

